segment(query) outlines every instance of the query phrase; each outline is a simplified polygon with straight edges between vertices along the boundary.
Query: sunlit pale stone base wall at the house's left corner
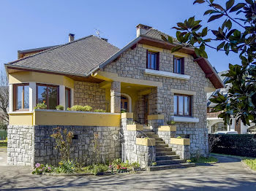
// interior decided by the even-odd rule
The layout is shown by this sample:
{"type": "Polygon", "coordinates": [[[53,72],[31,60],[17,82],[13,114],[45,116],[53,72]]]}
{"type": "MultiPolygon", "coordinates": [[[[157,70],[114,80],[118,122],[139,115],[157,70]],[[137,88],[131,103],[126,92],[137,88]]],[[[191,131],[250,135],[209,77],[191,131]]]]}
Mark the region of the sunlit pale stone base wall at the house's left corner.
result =
{"type": "Polygon", "coordinates": [[[34,126],[9,125],[7,133],[8,165],[34,163],[34,126]]]}

